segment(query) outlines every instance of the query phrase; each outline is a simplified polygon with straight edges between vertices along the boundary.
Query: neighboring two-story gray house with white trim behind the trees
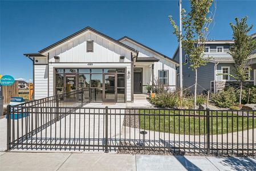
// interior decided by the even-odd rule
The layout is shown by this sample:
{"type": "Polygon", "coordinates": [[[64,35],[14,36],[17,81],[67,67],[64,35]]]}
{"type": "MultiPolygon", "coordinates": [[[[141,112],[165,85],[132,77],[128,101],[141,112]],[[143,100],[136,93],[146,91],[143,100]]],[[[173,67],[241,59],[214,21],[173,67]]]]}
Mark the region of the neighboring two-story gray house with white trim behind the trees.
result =
{"type": "MultiPolygon", "coordinates": [[[[251,35],[255,38],[256,34],[251,35]]],[[[198,88],[197,93],[202,93],[204,90],[210,90],[210,92],[222,91],[225,87],[233,86],[239,87],[239,83],[234,78],[227,75],[220,75],[228,73],[234,75],[234,60],[227,53],[230,48],[230,44],[234,43],[233,40],[208,40],[205,45],[205,58],[210,58],[206,66],[202,66],[198,69],[198,88]]],[[[173,59],[178,62],[178,48],[174,52],[173,59]]],[[[183,86],[184,88],[190,87],[191,91],[194,91],[194,78],[195,74],[191,68],[189,68],[188,55],[182,51],[183,65],[183,86]]],[[[256,50],[250,56],[250,66],[252,70],[248,73],[248,80],[246,85],[256,86],[256,50]]],[[[177,87],[179,86],[180,74],[179,68],[177,68],[177,87]]]]}

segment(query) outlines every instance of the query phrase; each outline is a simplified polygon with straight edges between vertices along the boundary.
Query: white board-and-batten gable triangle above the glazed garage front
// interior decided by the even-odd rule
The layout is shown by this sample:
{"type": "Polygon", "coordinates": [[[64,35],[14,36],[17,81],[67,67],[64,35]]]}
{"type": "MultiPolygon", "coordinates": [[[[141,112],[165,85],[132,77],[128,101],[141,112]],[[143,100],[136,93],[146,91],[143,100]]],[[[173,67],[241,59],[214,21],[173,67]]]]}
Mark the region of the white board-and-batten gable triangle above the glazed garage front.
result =
{"type": "Polygon", "coordinates": [[[49,62],[131,62],[131,52],[94,32],[84,32],[49,52],[49,62]],[[87,40],[94,41],[94,52],[87,52],[87,40]],[[55,60],[54,56],[59,56],[55,60]],[[125,56],[120,60],[120,56],[125,56]]]}

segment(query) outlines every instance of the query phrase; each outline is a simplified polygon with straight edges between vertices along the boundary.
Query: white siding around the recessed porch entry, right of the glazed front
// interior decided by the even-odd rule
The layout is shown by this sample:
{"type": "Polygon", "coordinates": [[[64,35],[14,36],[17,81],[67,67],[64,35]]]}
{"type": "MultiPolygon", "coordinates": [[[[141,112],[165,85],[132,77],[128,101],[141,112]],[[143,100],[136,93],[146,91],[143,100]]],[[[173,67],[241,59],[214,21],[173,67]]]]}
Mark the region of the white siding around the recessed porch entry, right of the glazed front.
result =
{"type": "MultiPolygon", "coordinates": [[[[163,56],[148,50],[147,48],[140,46],[139,44],[136,44],[135,42],[131,42],[130,40],[124,39],[121,40],[121,43],[126,44],[129,47],[134,48],[135,50],[139,51],[138,57],[155,57],[159,59],[159,62],[155,62],[155,67],[154,67],[154,77],[155,80],[158,80],[158,72],[159,70],[168,70],[169,71],[169,86],[172,89],[176,88],[176,64],[170,61],[169,59],[164,58],[163,56]]],[[[143,68],[143,84],[151,84],[152,83],[152,68],[145,68],[144,66],[140,66],[140,63],[135,63],[136,67],[141,67],[143,68]],[[145,74],[146,73],[146,74],[145,74]]],[[[145,87],[143,88],[143,93],[146,93],[145,87]]]]}

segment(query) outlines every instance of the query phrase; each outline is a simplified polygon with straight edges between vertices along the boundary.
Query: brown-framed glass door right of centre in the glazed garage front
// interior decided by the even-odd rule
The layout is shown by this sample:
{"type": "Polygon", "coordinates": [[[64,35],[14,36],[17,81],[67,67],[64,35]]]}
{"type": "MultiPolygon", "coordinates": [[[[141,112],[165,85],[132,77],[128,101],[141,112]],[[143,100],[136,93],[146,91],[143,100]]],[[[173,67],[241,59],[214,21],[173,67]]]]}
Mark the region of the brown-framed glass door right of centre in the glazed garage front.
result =
{"type": "Polygon", "coordinates": [[[103,101],[116,103],[116,74],[103,74],[103,101]]]}

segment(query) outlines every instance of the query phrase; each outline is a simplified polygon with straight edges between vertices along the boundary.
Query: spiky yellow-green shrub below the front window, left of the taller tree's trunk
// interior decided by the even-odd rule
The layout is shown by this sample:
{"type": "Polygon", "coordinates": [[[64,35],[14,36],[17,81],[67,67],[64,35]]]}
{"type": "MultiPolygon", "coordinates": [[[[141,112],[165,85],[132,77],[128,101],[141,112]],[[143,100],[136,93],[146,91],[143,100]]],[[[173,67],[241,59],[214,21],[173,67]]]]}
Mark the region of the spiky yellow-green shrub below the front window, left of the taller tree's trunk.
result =
{"type": "Polygon", "coordinates": [[[151,103],[159,107],[174,108],[179,104],[179,95],[177,92],[157,93],[151,98],[151,103]]]}

